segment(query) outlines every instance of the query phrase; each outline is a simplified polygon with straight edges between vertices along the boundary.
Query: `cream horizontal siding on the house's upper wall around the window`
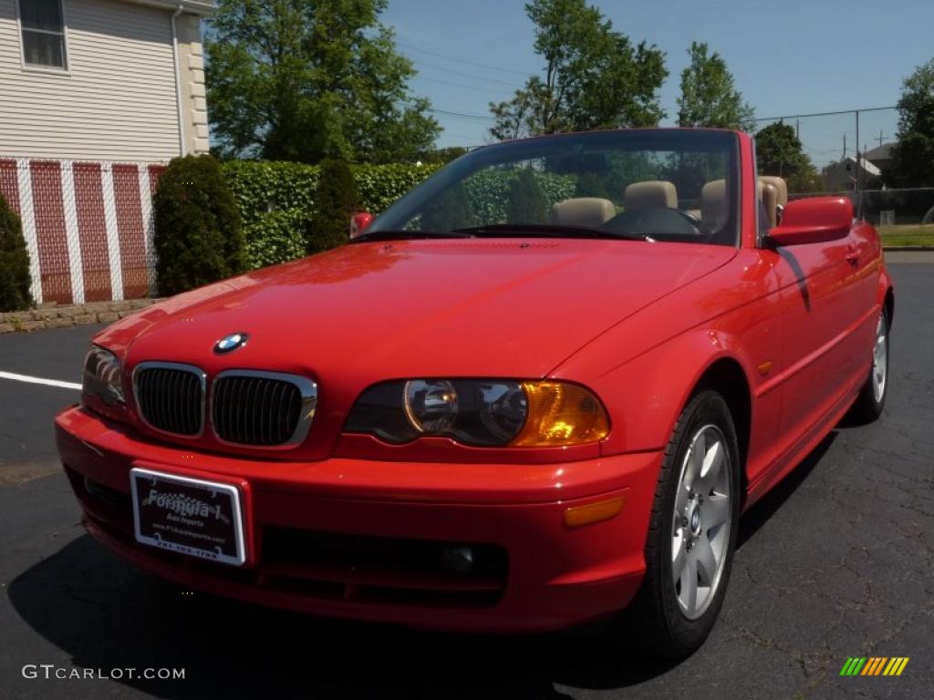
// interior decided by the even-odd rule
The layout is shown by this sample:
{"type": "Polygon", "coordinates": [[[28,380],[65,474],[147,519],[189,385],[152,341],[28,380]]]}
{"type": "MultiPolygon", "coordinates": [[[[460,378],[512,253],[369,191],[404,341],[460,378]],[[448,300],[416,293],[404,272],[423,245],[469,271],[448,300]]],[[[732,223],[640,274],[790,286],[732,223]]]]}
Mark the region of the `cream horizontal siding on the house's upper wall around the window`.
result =
{"type": "Polygon", "coordinates": [[[0,157],[178,155],[171,13],[64,0],[67,74],[23,70],[16,0],[0,0],[0,157]]]}

